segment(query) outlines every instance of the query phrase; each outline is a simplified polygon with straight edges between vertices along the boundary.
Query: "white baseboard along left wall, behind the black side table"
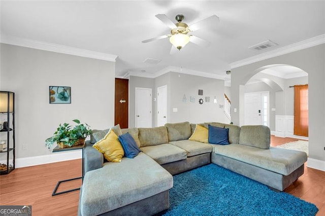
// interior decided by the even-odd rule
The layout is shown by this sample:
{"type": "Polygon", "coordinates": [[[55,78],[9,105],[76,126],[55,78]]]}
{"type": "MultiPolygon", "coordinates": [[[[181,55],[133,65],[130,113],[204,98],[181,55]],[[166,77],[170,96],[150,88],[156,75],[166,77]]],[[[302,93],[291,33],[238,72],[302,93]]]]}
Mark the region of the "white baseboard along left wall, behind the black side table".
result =
{"type": "MultiPolygon", "coordinates": [[[[69,161],[82,158],[82,150],[74,150],[69,152],[60,152],[50,155],[40,155],[27,158],[16,158],[16,168],[36,166],[47,163],[55,163],[60,161],[69,161]]],[[[6,161],[0,161],[1,163],[7,163],[6,161]]]]}

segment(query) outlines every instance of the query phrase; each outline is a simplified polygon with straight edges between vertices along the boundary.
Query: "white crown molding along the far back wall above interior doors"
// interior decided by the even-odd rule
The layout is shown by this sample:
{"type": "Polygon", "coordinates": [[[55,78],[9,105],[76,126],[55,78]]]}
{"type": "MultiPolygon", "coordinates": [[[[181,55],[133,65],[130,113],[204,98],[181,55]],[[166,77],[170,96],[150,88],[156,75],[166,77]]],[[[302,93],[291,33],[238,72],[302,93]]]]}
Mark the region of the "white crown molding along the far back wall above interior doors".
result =
{"type": "Polygon", "coordinates": [[[135,77],[144,77],[144,78],[157,78],[160,77],[161,75],[167,74],[169,72],[175,72],[175,73],[180,73],[180,74],[187,74],[187,75],[194,75],[194,76],[199,76],[199,77],[207,77],[207,78],[213,78],[213,79],[218,79],[218,80],[225,80],[225,76],[220,76],[216,74],[210,74],[198,70],[191,70],[187,68],[180,68],[180,67],[175,67],[175,66],[167,66],[164,69],[158,70],[154,74],[149,74],[149,73],[142,73],[138,71],[128,71],[123,78],[127,78],[129,76],[135,76],[135,77]]]}

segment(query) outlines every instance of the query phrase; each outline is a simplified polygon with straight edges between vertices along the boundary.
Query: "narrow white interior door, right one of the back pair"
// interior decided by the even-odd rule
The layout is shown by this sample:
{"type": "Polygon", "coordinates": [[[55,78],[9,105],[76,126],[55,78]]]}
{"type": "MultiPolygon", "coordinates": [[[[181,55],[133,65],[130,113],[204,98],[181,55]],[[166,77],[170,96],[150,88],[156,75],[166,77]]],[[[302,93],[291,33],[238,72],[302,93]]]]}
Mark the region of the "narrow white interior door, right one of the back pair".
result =
{"type": "Polygon", "coordinates": [[[157,126],[164,126],[167,123],[167,86],[157,88],[157,126]]]}

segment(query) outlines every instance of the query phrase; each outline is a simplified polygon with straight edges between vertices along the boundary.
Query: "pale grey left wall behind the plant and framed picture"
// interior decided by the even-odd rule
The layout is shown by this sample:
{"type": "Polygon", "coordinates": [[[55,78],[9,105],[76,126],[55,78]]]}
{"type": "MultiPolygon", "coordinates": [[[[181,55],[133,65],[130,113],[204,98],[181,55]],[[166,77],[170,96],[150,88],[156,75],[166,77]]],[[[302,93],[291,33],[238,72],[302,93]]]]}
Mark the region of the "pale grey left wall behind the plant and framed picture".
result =
{"type": "Polygon", "coordinates": [[[113,126],[114,81],[115,62],[1,44],[0,89],[16,93],[16,158],[52,154],[45,139],[63,122],[113,126]],[[49,104],[49,86],[70,86],[71,104],[49,104]]]}

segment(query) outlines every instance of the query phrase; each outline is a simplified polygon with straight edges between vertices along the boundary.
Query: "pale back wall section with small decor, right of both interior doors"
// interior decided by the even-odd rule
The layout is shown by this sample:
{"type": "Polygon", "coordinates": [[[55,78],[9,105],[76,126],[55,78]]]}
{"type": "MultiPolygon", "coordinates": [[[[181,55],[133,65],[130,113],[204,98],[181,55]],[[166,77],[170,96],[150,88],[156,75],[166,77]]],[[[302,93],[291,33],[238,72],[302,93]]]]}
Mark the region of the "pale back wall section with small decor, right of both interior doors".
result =
{"type": "Polygon", "coordinates": [[[219,106],[224,104],[223,80],[174,72],[170,72],[170,76],[171,102],[169,110],[171,118],[168,122],[224,122],[224,109],[219,106]],[[203,95],[198,95],[199,89],[203,90],[203,95]],[[185,103],[183,102],[184,94],[187,98],[185,103]],[[195,102],[190,102],[190,96],[195,97],[195,102]],[[210,97],[210,102],[206,102],[206,96],[210,97]],[[217,103],[213,103],[214,96],[217,98],[217,103]],[[203,104],[199,103],[200,98],[203,99],[203,104]],[[178,112],[173,112],[173,108],[177,108],[178,112]]]}

